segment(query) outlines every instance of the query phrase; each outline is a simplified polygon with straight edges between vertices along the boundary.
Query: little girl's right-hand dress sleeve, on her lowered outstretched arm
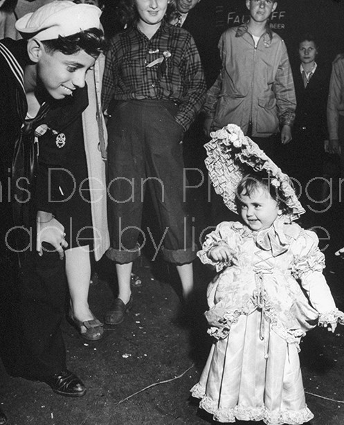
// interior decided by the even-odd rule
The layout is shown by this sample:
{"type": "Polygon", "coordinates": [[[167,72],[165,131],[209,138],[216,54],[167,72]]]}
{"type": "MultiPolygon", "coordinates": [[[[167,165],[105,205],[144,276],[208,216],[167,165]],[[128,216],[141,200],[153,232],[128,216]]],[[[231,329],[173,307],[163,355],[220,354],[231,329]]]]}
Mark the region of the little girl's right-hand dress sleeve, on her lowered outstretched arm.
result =
{"type": "Polygon", "coordinates": [[[308,294],[311,305],[319,313],[319,325],[335,323],[343,316],[323,275],[325,255],[318,248],[318,237],[310,230],[302,230],[293,244],[293,275],[308,294]]]}

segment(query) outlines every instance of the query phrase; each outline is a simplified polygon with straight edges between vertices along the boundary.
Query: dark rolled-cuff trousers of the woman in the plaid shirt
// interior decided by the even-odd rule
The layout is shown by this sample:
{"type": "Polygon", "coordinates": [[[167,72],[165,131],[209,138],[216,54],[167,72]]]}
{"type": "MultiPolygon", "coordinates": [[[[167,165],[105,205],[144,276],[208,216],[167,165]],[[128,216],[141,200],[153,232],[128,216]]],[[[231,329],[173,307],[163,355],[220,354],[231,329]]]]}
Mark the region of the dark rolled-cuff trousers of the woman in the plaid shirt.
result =
{"type": "Polygon", "coordinates": [[[183,128],[174,119],[177,111],[173,102],[134,100],[119,102],[112,113],[108,124],[109,256],[116,262],[138,256],[147,187],[165,234],[165,260],[186,264],[195,258],[185,204],[183,128]]]}

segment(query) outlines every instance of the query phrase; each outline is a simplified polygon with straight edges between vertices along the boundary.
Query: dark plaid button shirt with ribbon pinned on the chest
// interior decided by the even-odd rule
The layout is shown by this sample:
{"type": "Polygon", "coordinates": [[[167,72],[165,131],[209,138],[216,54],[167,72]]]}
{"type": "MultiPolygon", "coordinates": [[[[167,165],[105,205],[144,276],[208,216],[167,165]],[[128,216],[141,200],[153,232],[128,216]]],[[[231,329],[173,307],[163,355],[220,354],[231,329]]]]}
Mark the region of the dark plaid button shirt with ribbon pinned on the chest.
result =
{"type": "Polygon", "coordinates": [[[186,130],[205,96],[199,53],[183,28],[163,21],[151,39],[132,27],[111,40],[102,82],[103,109],[112,99],[171,100],[179,105],[176,122],[186,130]],[[147,67],[154,60],[160,62],[147,67]]]}

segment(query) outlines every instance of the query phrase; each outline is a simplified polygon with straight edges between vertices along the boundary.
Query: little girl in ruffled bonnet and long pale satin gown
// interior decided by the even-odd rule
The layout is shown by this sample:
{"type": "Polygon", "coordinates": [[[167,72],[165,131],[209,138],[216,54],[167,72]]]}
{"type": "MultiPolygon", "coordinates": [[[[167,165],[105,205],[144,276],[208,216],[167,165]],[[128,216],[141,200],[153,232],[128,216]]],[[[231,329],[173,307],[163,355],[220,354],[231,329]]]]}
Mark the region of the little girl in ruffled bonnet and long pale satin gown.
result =
{"type": "Polygon", "coordinates": [[[292,222],[304,210],[289,178],[239,127],[212,133],[206,149],[215,190],[242,221],[219,224],[198,253],[220,273],[207,293],[215,343],[192,395],[219,422],[303,424],[314,415],[300,338],[316,325],[334,332],[343,320],[322,274],[324,255],[316,234],[292,222]]]}

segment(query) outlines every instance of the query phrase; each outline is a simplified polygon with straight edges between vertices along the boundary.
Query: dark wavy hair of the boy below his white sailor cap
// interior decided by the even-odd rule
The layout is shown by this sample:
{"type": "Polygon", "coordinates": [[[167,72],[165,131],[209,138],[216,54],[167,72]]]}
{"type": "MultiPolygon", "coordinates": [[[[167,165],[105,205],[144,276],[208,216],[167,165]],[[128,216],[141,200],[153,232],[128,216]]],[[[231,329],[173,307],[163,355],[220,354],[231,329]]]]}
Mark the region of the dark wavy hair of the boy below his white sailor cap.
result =
{"type": "Polygon", "coordinates": [[[99,28],[89,28],[67,37],[45,40],[42,44],[50,54],[59,51],[64,55],[74,55],[83,50],[95,58],[106,48],[104,34],[99,28]]]}

